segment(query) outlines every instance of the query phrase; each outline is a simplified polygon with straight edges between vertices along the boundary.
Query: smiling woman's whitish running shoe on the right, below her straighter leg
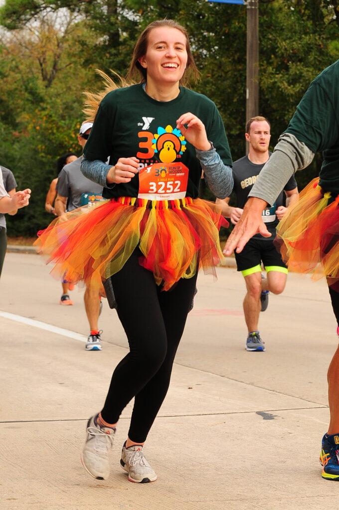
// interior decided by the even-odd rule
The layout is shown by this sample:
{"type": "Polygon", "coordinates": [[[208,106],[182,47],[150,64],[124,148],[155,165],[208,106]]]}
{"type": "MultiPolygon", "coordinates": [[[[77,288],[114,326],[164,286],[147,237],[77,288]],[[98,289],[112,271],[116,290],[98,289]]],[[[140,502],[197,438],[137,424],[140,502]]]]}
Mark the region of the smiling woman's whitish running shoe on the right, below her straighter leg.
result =
{"type": "Polygon", "coordinates": [[[120,464],[127,471],[130,481],[148,483],[157,479],[155,471],[143,455],[142,445],[133,445],[126,448],[125,441],[121,452],[120,464]]]}

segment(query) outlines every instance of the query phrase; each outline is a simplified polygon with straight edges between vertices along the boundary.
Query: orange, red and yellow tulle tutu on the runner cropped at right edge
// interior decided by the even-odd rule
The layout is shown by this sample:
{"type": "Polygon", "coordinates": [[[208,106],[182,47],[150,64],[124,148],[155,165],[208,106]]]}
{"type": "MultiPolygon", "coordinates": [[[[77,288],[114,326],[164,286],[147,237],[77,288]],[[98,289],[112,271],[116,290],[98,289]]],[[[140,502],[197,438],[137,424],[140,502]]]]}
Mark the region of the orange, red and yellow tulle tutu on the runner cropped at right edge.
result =
{"type": "Polygon", "coordinates": [[[327,277],[339,290],[339,195],[333,199],[314,179],[277,226],[275,243],[288,269],[327,277]]]}

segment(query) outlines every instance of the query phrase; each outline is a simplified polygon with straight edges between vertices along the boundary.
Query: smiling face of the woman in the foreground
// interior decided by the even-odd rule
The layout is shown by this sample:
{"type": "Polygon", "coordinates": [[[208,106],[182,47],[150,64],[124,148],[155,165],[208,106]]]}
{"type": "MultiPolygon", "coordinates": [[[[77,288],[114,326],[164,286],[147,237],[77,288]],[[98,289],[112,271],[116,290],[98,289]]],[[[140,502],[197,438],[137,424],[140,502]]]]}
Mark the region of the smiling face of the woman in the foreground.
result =
{"type": "Polygon", "coordinates": [[[157,27],[149,33],[146,55],[139,59],[147,69],[147,81],[170,85],[181,80],[186,64],[186,37],[171,27],[157,27]]]}

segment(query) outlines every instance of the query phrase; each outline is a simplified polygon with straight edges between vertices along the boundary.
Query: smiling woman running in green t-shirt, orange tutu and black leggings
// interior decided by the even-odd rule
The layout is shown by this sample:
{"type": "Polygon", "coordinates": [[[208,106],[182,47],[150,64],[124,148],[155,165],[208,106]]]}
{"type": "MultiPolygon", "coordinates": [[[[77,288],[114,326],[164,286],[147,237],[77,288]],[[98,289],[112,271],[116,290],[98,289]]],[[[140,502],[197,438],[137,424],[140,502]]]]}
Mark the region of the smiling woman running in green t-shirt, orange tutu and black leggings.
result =
{"type": "Polygon", "coordinates": [[[135,75],[140,83],[101,101],[84,149],[82,171],[109,201],[88,214],[69,213],[38,244],[59,277],[98,286],[111,278],[130,346],[101,413],[88,421],[82,463],[95,478],[109,476],[115,426],[135,397],[120,464],[130,481],[149,482],[157,476],[142,448],[167,393],[198,269],[215,272],[223,259],[224,220],[198,198],[202,169],[217,196],[228,196],[233,181],[219,112],[183,86],[198,76],[186,30],[172,20],[151,23],[127,79],[135,75]]]}

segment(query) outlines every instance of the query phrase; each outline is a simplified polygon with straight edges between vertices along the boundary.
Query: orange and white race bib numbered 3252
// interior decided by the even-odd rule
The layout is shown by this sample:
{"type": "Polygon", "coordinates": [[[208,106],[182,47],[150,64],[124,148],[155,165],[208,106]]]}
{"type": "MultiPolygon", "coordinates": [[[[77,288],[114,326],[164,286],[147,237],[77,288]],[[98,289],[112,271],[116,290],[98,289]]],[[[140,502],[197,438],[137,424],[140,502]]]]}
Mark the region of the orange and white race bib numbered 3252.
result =
{"type": "Polygon", "coordinates": [[[138,198],[177,200],[187,191],[188,168],[180,162],[154,163],[139,172],[138,198]]]}

